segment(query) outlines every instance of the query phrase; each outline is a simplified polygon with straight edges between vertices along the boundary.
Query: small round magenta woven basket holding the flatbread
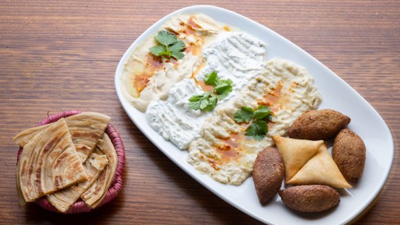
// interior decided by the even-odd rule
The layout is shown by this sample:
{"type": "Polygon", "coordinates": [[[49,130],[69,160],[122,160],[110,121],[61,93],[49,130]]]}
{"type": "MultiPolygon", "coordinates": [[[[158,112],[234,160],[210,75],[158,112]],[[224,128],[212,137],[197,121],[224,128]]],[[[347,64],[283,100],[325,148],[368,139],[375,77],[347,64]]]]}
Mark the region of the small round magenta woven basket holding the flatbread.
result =
{"type": "MultiPolygon", "coordinates": [[[[68,116],[73,116],[76,114],[80,114],[82,111],[79,110],[73,110],[73,111],[64,111],[59,114],[55,114],[53,116],[49,116],[45,118],[45,120],[42,120],[42,122],[39,122],[36,124],[35,127],[42,126],[45,124],[49,124],[51,122],[55,122],[59,120],[60,118],[66,118],[68,116]]],[[[112,126],[112,124],[108,123],[107,124],[107,129],[105,129],[105,133],[108,134],[110,137],[110,140],[112,144],[114,145],[114,148],[116,150],[116,155],[118,157],[118,165],[116,166],[116,171],[114,178],[112,180],[112,184],[110,185],[110,188],[107,191],[107,194],[105,194],[105,198],[103,201],[99,204],[99,207],[107,202],[110,202],[113,198],[115,198],[118,193],[121,191],[123,183],[122,183],[122,172],[123,172],[123,166],[125,164],[125,148],[123,146],[123,142],[121,140],[121,137],[119,136],[118,131],[112,126]]],[[[18,163],[19,157],[21,156],[21,153],[23,151],[23,148],[19,148],[18,150],[18,155],[16,157],[16,162],[18,163]]],[[[50,204],[49,201],[46,200],[46,197],[39,198],[36,200],[36,203],[40,205],[40,207],[47,209],[49,211],[54,211],[58,212],[53,205],[50,204]]],[[[92,211],[93,209],[88,207],[83,200],[79,200],[75,202],[71,208],[66,211],[66,214],[70,213],[86,213],[89,211],[92,211]]]]}

